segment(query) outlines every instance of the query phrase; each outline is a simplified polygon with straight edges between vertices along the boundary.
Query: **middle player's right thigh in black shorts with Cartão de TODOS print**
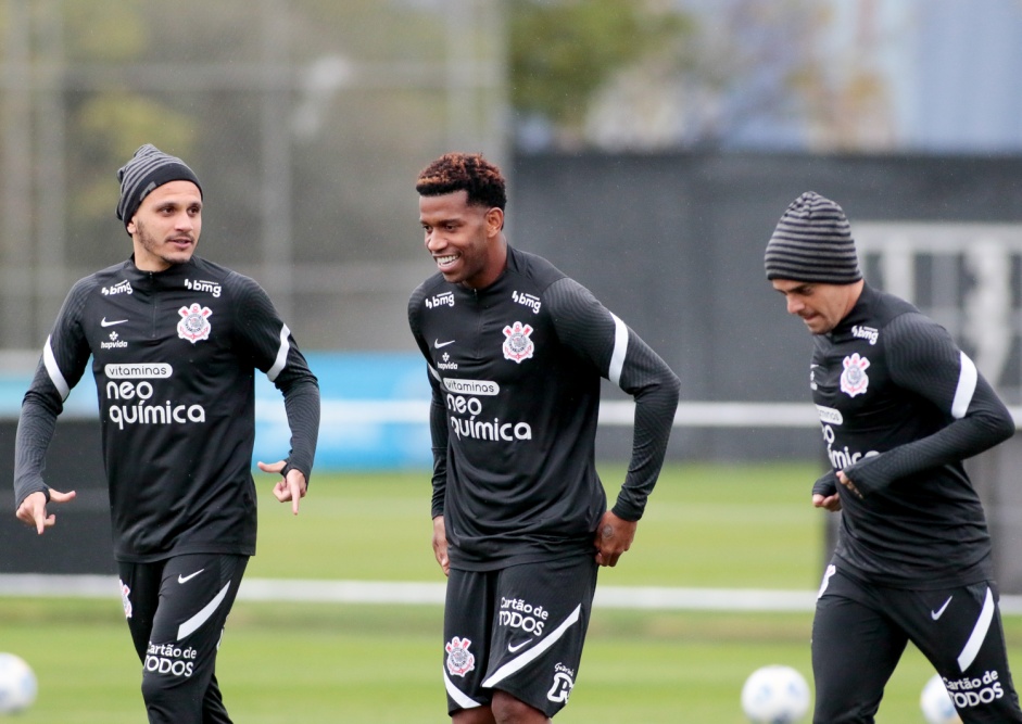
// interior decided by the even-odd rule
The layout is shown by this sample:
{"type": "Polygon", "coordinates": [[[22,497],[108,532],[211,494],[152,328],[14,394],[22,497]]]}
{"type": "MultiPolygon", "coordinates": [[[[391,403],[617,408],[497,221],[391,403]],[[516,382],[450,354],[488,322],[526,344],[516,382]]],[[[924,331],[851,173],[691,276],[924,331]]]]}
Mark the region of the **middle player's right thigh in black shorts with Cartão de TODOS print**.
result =
{"type": "Polygon", "coordinates": [[[483,686],[553,716],[575,686],[598,568],[589,555],[501,571],[483,686]]]}

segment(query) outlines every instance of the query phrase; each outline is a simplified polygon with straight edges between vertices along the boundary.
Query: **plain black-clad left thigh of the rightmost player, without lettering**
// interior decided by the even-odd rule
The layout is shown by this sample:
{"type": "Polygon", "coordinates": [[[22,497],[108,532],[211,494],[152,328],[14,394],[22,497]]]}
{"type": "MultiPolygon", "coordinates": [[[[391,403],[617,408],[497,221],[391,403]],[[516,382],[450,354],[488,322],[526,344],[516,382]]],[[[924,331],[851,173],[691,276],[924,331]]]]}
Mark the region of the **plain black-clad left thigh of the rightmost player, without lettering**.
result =
{"type": "Polygon", "coordinates": [[[907,640],[868,592],[834,576],[812,620],[813,721],[872,722],[907,640]]]}

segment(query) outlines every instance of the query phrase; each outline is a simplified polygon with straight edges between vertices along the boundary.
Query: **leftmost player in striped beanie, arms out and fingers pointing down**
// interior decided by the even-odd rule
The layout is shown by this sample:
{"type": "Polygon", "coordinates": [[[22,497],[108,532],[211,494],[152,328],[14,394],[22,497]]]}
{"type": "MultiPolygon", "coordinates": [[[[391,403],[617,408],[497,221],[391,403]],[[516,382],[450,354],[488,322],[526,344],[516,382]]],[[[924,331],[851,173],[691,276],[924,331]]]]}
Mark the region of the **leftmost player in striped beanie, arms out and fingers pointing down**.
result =
{"type": "Polygon", "coordinates": [[[46,341],[18,420],[16,515],[42,534],[55,523],[48,504],[74,498],[43,482],[43,461],[91,356],[114,557],[149,721],[229,723],[214,668],[255,554],[254,372],[283,394],[291,453],[258,465],[280,474],[274,494],[294,515],[312,472],[319,386],[260,285],[194,256],[202,190],[191,168],[147,144],[117,176],[134,254],[79,280],[46,341]]]}

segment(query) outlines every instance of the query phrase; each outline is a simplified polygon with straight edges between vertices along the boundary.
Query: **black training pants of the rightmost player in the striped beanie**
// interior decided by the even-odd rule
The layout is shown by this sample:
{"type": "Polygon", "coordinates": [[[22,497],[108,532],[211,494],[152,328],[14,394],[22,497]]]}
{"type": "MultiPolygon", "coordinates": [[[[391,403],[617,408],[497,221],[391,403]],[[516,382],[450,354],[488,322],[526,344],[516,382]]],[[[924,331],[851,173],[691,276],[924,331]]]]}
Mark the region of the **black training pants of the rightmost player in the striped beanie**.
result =
{"type": "Polygon", "coordinates": [[[908,642],[944,678],[966,724],[1022,722],[993,582],[889,588],[841,566],[828,567],[812,622],[813,722],[872,722],[908,642]]]}

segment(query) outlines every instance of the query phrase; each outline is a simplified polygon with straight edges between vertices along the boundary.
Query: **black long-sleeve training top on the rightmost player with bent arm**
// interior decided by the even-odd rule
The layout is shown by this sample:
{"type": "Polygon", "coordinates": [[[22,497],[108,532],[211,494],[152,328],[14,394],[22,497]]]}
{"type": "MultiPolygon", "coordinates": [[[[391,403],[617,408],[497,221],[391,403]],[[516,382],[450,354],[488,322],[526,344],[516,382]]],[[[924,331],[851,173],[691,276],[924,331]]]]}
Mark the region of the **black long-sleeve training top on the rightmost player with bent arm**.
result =
{"type": "Polygon", "coordinates": [[[836,557],[895,587],[992,577],[986,519],[962,460],[1010,437],[1014,423],[975,365],[943,327],[868,284],[813,339],[809,382],[832,466],[813,493],[841,495],[836,557]]]}

